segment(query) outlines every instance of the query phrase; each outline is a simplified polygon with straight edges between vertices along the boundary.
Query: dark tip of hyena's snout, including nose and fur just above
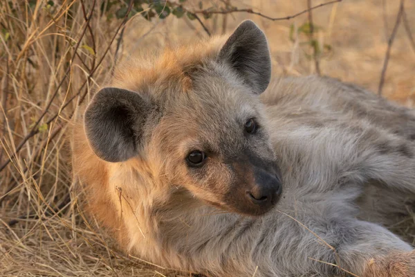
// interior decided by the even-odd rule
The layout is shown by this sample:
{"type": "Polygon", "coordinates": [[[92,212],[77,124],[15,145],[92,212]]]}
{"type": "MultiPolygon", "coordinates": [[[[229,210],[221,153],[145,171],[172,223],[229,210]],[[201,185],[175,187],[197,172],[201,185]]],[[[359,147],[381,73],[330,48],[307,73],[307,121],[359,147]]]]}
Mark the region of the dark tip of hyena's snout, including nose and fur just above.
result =
{"type": "Polygon", "coordinates": [[[252,188],[248,188],[245,192],[248,201],[261,208],[274,206],[282,193],[279,177],[261,168],[255,168],[254,179],[252,188]]]}

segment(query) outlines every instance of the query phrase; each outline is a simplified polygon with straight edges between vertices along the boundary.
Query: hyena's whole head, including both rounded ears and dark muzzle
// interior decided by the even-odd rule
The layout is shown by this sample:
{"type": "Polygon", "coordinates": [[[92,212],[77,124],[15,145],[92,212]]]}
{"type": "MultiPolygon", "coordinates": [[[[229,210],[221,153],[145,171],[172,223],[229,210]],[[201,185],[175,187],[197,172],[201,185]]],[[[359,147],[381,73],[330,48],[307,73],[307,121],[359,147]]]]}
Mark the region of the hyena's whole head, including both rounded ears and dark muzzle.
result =
{"type": "Polygon", "coordinates": [[[282,184],[259,100],[270,82],[264,33],[244,21],[219,46],[181,48],[164,59],[127,68],[120,88],[97,93],[85,113],[95,154],[109,162],[139,157],[158,184],[226,211],[269,211],[282,184]]]}

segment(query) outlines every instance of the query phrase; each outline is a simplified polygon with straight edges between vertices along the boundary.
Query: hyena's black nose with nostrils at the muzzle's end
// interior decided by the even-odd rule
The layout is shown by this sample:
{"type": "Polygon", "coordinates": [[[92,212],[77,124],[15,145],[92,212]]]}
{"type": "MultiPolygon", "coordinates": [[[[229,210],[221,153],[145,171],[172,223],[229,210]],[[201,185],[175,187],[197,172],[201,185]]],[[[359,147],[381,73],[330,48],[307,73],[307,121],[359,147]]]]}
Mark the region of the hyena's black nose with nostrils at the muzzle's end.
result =
{"type": "Polygon", "coordinates": [[[256,186],[246,191],[246,197],[256,205],[268,206],[275,204],[282,193],[281,181],[272,175],[266,177],[263,175],[261,179],[262,182],[257,182],[256,186]]]}

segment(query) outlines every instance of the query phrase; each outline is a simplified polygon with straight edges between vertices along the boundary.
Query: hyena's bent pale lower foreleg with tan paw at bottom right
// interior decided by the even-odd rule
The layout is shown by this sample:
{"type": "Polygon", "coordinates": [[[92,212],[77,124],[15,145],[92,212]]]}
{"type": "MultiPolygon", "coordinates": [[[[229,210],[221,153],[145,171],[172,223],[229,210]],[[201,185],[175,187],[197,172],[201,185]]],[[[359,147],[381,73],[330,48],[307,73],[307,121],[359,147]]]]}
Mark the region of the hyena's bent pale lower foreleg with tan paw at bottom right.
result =
{"type": "MultiPolygon", "coordinates": [[[[412,247],[382,226],[356,220],[345,228],[345,223],[337,226],[346,230],[337,235],[337,239],[342,240],[335,249],[335,263],[341,267],[339,271],[346,269],[360,277],[415,276],[412,247]]],[[[336,227],[331,224],[329,232],[333,231],[333,226],[336,227]]]]}

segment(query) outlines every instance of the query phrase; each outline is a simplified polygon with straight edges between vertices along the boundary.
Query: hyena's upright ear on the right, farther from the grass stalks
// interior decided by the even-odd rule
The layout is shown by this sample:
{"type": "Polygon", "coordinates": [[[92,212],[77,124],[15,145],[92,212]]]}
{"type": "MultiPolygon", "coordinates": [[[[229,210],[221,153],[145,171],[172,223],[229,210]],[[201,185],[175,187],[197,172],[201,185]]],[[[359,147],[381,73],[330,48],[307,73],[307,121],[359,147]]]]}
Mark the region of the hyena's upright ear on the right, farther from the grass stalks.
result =
{"type": "Polygon", "coordinates": [[[219,59],[232,66],[255,93],[268,87],[271,60],[264,33],[250,20],[243,21],[225,42],[219,59]]]}

